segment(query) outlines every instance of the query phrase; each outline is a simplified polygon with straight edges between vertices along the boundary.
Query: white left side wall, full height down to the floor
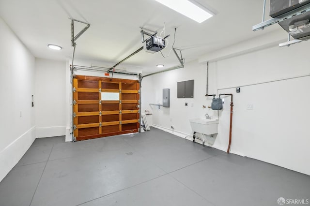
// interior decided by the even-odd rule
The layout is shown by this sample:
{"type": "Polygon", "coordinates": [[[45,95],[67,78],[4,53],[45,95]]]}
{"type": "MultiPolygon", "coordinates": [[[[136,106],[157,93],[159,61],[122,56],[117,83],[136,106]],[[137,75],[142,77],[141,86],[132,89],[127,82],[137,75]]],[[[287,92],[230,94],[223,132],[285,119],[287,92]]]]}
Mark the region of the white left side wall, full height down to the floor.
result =
{"type": "Polygon", "coordinates": [[[0,181],[35,139],[34,57],[0,18],[0,181]]]}

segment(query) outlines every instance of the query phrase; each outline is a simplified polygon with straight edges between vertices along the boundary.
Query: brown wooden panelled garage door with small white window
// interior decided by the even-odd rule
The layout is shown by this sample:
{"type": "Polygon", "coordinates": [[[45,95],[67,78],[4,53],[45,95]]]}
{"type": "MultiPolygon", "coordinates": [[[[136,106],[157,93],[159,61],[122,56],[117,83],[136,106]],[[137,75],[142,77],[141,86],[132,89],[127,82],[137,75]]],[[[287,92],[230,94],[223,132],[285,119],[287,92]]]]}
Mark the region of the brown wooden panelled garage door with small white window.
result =
{"type": "Polygon", "coordinates": [[[76,140],[138,132],[139,89],[137,80],[76,76],[73,79],[76,140]]]}

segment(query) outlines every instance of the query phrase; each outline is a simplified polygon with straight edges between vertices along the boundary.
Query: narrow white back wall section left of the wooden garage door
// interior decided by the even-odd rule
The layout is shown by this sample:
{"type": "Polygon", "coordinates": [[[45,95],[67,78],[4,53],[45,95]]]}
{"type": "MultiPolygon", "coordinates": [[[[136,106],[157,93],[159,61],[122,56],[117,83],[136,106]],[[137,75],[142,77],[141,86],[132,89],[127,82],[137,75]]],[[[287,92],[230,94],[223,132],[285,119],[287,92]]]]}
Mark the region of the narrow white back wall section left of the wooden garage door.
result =
{"type": "Polygon", "coordinates": [[[65,70],[65,61],[35,59],[34,104],[38,138],[65,135],[65,70]]]}

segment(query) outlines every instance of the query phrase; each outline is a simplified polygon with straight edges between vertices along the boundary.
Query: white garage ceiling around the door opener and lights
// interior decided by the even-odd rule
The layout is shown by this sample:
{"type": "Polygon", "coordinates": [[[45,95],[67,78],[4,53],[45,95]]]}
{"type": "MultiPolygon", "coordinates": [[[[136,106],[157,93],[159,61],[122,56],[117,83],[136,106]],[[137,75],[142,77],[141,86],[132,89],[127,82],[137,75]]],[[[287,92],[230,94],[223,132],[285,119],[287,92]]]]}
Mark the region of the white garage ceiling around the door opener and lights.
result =
{"type": "MultiPolygon", "coordinates": [[[[171,36],[162,50],[164,55],[171,49],[173,28],[177,27],[174,47],[182,49],[186,62],[279,29],[274,25],[252,31],[262,20],[263,0],[198,1],[217,15],[199,24],[155,0],[0,0],[0,16],[35,57],[45,59],[71,58],[69,17],[89,22],[91,27],[76,42],[76,58],[109,62],[107,67],[143,45],[141,26],[160,32],[165,23],[166,35],[171,36]],[[47,44],[63,49],[50,50],[47,44]]],[[[83,27],[75,22],[76,33],[83,27]]],[[[165,68],[179,65],[173,52],[163,58],[159,52],[141,51],[124,63],[142,67],[145,73],[158,71],[156,64],[165,64],[165,68]]]]}

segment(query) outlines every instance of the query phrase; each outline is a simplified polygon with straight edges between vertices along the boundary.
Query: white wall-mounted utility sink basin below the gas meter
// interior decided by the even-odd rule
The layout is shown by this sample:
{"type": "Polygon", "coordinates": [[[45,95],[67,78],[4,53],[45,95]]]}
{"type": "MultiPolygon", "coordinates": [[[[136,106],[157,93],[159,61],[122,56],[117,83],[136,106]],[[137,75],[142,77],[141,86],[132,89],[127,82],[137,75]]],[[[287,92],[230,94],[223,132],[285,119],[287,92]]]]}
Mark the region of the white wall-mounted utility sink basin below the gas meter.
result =
{"type": "Polygon", "coordinates": [[[189,119],[190,126],[194,132],[199,132],[202,134],[216,134],[218,119],[207,119],[207,118],[194,118],[189,119]]]}

